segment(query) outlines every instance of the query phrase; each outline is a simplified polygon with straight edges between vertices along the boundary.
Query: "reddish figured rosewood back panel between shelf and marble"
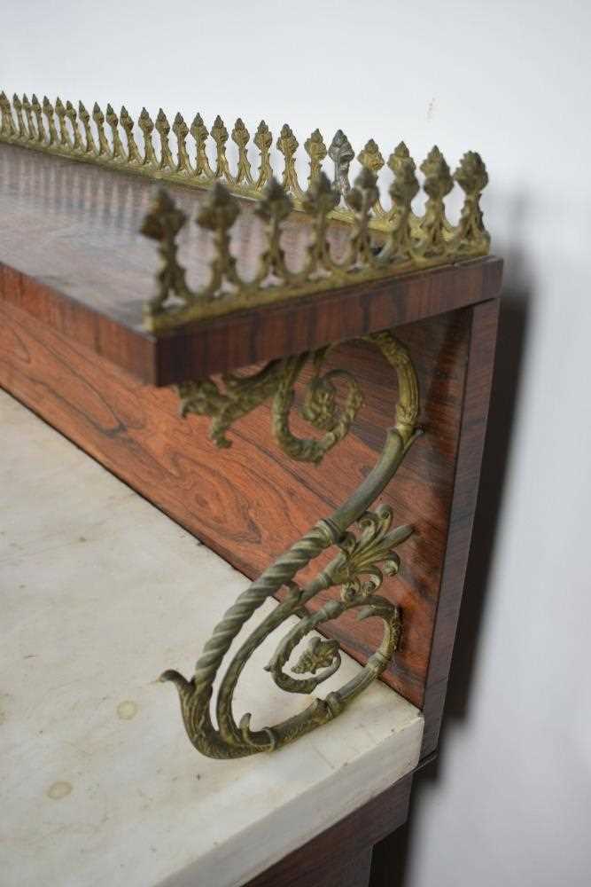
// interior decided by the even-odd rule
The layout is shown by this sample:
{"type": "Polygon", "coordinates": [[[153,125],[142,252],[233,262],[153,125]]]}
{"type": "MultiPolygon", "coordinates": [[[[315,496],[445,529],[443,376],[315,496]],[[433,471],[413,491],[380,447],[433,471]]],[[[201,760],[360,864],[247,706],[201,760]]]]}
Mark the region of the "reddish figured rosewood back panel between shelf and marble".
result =
{"type": "MultiPolygon", "coordinates": [[[[234,445],[219,451],[206,439],[206,418],[178,417],[173,391],[142,386],[12,303],[0,302],[0,311],[0,384],[249,577],[361,482],[393,421],[393,369],[369,344],[349,343],[330,360],[360,380],[366,404],[320,467],[284,459],[270,436],[268,407],[237,423],[234,445]]],[[[381,498],[396,522],[416,527],[400,550],[400,577],[383,586],[405,618],[385,680],[419,706],[445,557],[469,330],[470,310],[398,330],[416,359],[426,434],[381,498]]],[[[293,425],[296,433],[309,432],[298,420],[293,425]]],[[[327,625],[327,633],[365,662],[381,628],[377,620],[349,616],[327,625]]]]}

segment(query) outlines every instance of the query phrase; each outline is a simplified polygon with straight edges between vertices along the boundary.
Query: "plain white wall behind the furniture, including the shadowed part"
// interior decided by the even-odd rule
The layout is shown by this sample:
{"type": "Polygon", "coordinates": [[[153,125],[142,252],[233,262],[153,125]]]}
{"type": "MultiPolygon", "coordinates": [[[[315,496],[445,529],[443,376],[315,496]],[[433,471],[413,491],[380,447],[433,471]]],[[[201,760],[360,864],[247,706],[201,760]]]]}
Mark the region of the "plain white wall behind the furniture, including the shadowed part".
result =
{"type": "Polygon", "coordinates": [[[507,258],[494,428],[451,714],[437,777],[416,791],[405,887],[591,881],[589,9],[3,5],[11,94],[240,114],[252,132],[264,115],[300,144],[342,127],[357,150],[373,136],[387,156],[403,137],[416,159],[437,142],[452,166],[469,148],[486,160],[486,221],[507,258]]]}

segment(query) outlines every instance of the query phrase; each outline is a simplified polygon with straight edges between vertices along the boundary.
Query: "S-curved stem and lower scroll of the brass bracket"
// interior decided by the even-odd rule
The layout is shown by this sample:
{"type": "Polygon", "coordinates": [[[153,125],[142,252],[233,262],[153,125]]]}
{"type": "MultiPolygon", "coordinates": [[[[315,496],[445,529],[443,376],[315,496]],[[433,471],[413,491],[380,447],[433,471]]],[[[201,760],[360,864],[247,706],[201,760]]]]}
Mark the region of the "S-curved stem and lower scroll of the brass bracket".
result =
{"type": "MultiPolygon", "coordinates": [[[[385,598],[371,597],[370,593],[369,596],[368,593],[362,593],[351,597],[350,593],[345,594],[347,586],[343,585],[344,592],[341,594],[340,601],[329,601],[315,616],[308,614],[305,609],[307,600],[323,589],[347,582],[350,587],[350,580],[364,572],[367,573],[368,569],[373,577],[378,577],[378,584],[381,583],[383,575],[379,569],[376,569],[375,559],[384,561],[388,556],[390,546],[403,541],[411,532],[410,528],[406,527],[386,533],[385,530],[388,529],[391,520],[388,509],[381,509],[373,515],[366,514],[366,511],[371,502],[377,498],[392,479],[418,433],[416,419],[419,402],[416,373],[408,351],[399,341],[394,339],[392,334],[385,332],[367,338],[377,345],[388,362],[395,367],[399,381],[396,425],[386,435],[385,446],[377,465],[372,468],[358,489],[342,506],[339,506],[330,517],[316,523],[315,527],[308,530],[298,542],[268,567],[261,577],[239,595],[236,602],[224,613],[221,621],[214,628],[212,637],[206,641],[191,681],[184,679],[178,671],[166,671],[162,675],[162,679],[174,681],[178,689],[183,720],[191,742],[199,751],[209,757],[243,757],[262,750],[273,750],[287,742],[292,742],[300,735],[315,729],[316,726],[327,723],[331,718],[336,717],[356,695],[368,687],[377,675],[384,671],[398,643],[400,612],[385,598]],[[364,514],[365,518],[363,518],[364,514]],[[368,528],[369,536],[360,538],[356,543],[357,554],[355,554],[351,553],[347,542],[351,534],[346,534],[346,530],[352,523],[360,519],[362,519],[362,526],[368,528]],[[377,531],[379,530],[377,536],[372,536],[372,526],[375,526],[377,531]],[[293,582],[293,578],[299,573],[299,570],[306,567],[323,550],[334,544],[339,545],[341,553],[306,586],[299,588],[293,582]],[[356,561],[355,558],[357,558],[356,561]],[[349,571],[353,569],[353,574],[347,573],[347,564],[349,564],[349,571]],[[264,600],[284,586],[288,589],[285,600],[250,633],[229,663],[217,695],[218,727],[216,729],[212,722],[210,701],[214,679],[222,665],[222,660],[243,625],[253,616],[255,610],[261,606],[264,600]],[[289,679],[281,670],[292,652],[293,641],[296,638],[300,640],[316,624],[336,618],[348,608],[360,608],[360,618],[378,616],[385,624],[384,638],[380,648],[376,654],[369,657],[362,671],[354,679],[348,681],[344,687],[330,693],[326,699],[315,698],[306,710],[275,726],[253,731],[250,728],[250,714],[245,714],[237,724],[232,713],[232,698],[237,680],[253,651],[268,637],[268,634],[289,616],[296,613],[304,614],[305,618],[302,623],[297,629],[292,630],[280,644],[268,666],[268,671],[271,672],[279,687],[292,692],[301,692],[308,687],[315,687],[321,680],[328,678],[333,671],[336,671],[336,668],[326,669],[318,679],[309,679],[308,681],[306,679],[289,679]]],[[[320,363],[319,359],[318,365],[320,363]]],[[[289,406],[292,404],[295,365],[301,367],[303,364],[301,360],[296,358],[286,361],[285,385],[282,388],[281,396],[278,397],[278,406],[287,411],[285,420],[289,406]]],[[[352,389],[355,392],[356,385],[352,386],[352,389]]],[[[349,391],[349,396],[351,396],[351,391],[349,391]]],[[[351,539],[348,541],[350,542],[351,539]]]]}

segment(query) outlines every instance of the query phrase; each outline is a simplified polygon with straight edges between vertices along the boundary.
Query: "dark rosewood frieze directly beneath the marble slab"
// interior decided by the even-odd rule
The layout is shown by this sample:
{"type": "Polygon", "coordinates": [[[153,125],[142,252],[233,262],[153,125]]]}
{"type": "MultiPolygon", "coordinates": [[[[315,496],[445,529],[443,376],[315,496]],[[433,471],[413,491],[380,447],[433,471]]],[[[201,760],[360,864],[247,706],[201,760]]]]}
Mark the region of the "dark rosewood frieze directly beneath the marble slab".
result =
{"type": "Polygon", "coordinates": [[[366,887],[371,848],[406,821],[412,780],[408,773],[244,887],[366,887]]]}

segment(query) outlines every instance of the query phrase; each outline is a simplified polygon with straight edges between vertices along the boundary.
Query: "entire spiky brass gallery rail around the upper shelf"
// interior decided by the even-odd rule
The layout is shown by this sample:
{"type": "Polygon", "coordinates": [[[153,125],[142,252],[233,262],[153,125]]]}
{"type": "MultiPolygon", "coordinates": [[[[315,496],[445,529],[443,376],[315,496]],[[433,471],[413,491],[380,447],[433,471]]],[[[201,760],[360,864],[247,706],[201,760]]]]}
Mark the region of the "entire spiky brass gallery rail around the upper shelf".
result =
{"type": "Polygon", "coordinates": [[[432,148],[420,165],[426,201],[423,215],[416,215],[413,201],[420,184],[407,146],[400,142],[386,164],[377,143],[369,139],[357,154],[361,173],[352,185],[355,153],[342,130],[328,148],[319,130],[304,142],[309,167],[306,191],[296,170],[299,142],[287,124],[275,143],[283,170],[274,173],[274,137],[264,121],[253,138],[255,170],[250,133],[240,118],[231,133],[219,116],[207,129],[200,114],[191,126],[176,114],[171,127],[161,108],[155,121],[144,108],[134,122],[125,106],[116,114],[111,105],[103,112],[95,104],[89,114],[82,102],[76,107],[57,98],[52,104],[45,97],[42,103],[35,95],[31,100],[14,95],[11,101],[2,92],[0,141],[162,182],[213,189],[212,200],[197,218],[214,239],[211,278],[204,287],[191,289],[178,261],[177,235],[186,216],[166,192],[159,192],[144,220],[144,234],[159,241],[161,258],[157,292],[145,307],[145,325],[156,333],[360,280],[470,259],[489,250],[479,205],[488,177],[480,156],[472,151],[463,155],[452,176],[439,148],[432,148]],[[228,156],[229,139],[237,155],[233,159],[228,156]],[[208,150],[212,143],[213,152],[208,150]],[[327,157],[332,163],[330,177],[323,169],[327,157]],[[385,165],[393,173],[387,206],[377,187],[377,174],[385,165]],[[454,183],[464,192],[457,224],[451,224],[445,208],[454,183]],[[255,212],[264,229],[265,247],[248,279],[239,273],[232,251],[232,229],[240,213],[237,197],[259,200],[255,212]],[[309,223],[306,257],[297,269],[288,267],[281,243],[292,210],[306,213],[309,223]],[[330,223],[335,219],[350,226],[348,244],[340,255],[330,246],[330,223]]]}

